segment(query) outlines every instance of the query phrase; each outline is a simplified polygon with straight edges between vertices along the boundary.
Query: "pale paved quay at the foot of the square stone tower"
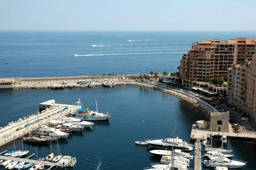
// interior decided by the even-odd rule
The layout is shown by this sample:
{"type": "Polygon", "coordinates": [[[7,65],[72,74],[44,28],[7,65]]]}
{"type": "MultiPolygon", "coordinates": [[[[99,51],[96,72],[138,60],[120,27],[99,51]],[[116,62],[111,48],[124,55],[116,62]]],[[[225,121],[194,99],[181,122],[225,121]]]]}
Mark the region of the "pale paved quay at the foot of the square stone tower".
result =
{"type": "MultiPolygon", "coordinates": [[[[249,140],[256,140],[256,134],[255,133],[233,133],[233,128],[231,124],[229,124],[229,133],[223,133],[223,135],[228,136],[229,138],[238,138],[238,139],[249,139],[249,140]]],[[[211,132],[209,128],[207,129],[198,129],[196,128],[196,125],[192,125],[191,135],[190,135],[190,141],[197,141],[197,138],[200,138],[200,141],[207,140],[207,138],[210,138],[210,135],[214,135],[214,137],[221,138],[222,132],[211,132]]]]}

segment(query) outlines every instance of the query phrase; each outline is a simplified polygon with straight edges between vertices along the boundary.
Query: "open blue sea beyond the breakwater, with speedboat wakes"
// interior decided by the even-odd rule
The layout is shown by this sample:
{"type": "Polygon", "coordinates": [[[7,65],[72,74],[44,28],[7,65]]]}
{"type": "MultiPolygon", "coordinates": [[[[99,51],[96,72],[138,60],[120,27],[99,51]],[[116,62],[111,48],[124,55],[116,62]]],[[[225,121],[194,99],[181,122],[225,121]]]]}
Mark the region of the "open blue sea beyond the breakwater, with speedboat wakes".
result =
{"type": "Polygon", "coordinates": [[[0,77],[177,72],[193,42],[237,37],[256,32],[0,31],[0,77]]]}

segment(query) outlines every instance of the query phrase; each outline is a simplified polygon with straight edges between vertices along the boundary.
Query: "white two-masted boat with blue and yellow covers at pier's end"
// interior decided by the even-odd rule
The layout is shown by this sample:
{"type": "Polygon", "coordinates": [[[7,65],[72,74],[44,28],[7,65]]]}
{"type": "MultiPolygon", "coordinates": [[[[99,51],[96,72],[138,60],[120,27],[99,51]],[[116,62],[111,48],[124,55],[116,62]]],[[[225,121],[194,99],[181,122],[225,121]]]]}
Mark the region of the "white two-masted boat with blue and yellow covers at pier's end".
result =
{"type": "Polygon", "coordinates": [[[88,107],[84,109],[82,108],[82,105],[79,105],[81,104],[81,101],[79,98],[78,106],[80,109],[78,109],[77,112],[71,113],[70,116],[73,118],[79,118],[83,121],[108,121],[111,114],[99,113],[97,101],[95,103],[96,103],[96,111],[90,111],[88,107]]]}

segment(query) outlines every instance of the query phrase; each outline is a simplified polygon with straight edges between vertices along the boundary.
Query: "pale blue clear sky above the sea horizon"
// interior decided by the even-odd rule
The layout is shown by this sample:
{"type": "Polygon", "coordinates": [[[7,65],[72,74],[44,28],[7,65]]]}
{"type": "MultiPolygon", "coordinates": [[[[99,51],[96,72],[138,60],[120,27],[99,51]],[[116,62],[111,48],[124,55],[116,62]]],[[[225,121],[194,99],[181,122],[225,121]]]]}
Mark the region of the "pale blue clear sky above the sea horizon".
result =
{"type": "Polygon", "coordinates": [[[256,30],[256,0],[0,0],[2,30],[256,30]]]}

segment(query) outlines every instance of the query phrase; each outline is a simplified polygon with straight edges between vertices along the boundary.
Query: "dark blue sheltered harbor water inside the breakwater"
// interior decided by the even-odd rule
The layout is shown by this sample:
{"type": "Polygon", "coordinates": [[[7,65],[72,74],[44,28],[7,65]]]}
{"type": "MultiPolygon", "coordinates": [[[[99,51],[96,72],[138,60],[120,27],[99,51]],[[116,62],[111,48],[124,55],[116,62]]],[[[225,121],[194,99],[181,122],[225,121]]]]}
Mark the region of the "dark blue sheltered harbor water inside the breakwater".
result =
{"type": "MultiPolygon", "coordinates": [[[[74,104],[80,98],[84,107],[93,110],[97,99],[99,112],[111,113],[109,121],[96,122],[95,127],[86,129],[87,132],[73,133],[72,138],[60,140],[61,153],[77,158],[73,167],[76,170],[143,170],[159,160],[149,153],[152,147],[138,146],[134,141],[169,138],[175,121],[176,134],[189,141],[191,125],[197,120],[207,120],[203,112],[180,98],[145,87],[122,85],[114,88],[1,90],[0,127],[35,114],[38,104],[51,98],[63,104],[74,104]]],[[[21,142],[21,139],[15,142],[16,150],[21,149],[21,142]]],[[[248,161],[243,170],[254,170],[255,141],[232,139],[230,143],[224,147],[232,147],[234,158],[248,161]]],[[[220,141],[214,139],[213,146],[220,147],[220,141]]],[[[30,154],[35,153],[35,147],[24,143],[24,150],[29,150],[30,154]]],[[[3,150],[13,150],[13,143],[0,148],[3,150]]],[[[50,153],[50,146],[37,146],[37,151],[38,158],[45,157],[50,153]]],[[[56,153],[56,143],[52,143],[52,151],[56,153]]]]}

